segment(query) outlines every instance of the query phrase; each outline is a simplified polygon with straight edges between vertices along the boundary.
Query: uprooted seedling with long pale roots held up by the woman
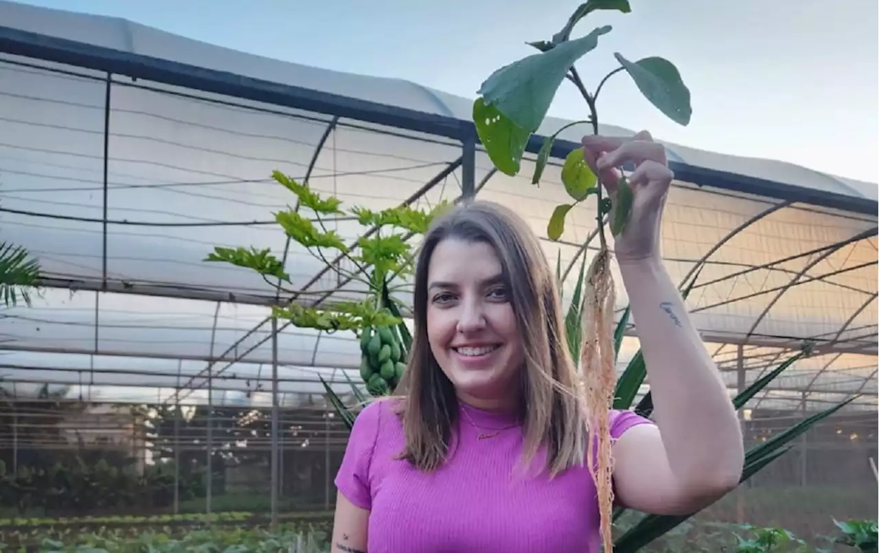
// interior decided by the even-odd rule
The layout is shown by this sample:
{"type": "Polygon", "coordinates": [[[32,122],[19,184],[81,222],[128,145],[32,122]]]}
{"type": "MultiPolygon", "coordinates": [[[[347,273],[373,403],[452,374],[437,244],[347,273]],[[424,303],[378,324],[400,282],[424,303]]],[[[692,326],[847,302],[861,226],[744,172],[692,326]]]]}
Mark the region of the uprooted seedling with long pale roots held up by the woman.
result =
{"type": "MultiPolygon", "coordinates": [[[[599,10],[629,13],[628,0],[588,0],[571,14],[561,31],[551,40],[530,42],[540,50],[519,61],[499,68],[492,73],[479,89],[479,97],[473,104],[473,121],[476,133],[482,141],[491,162],[509,176],[519,173],[521,160],[528,140],[536,133],[546,118],[549,105],[556,97],[559,86],[568,80],[583,96],[589,117],[563,126],[543,140],[534,164],[532,183],[540,183],[541,176],[552,153],[556,137],[564,129],[579,124],[592,126],[592,133],[599,133],[598,99],[607,80],[621,72],[628,73],[651,104],[679,125],[686,126],[692,115],[690,91],[681,80],[678,69],[660,57],[648,57],[628,61],[620,53],[614,57],[620,63],[590,92],[580,78],[574,63],[599,45],[599,39],[611,32],[610,25],[596,27],[585,36],[571,39],[571,32],[590,13],[599,10]]],[[[624,173],[622,173],[624,175],[624,173]]],[[[588,197],[597,203],[599,254],[592,259],[585,276],[586,307],[583,310],[583,348],[580,352],[581,366],[585,369],[584,381],[586,406],[592,413],[593,435],[599,439],[598,462],[592,463],[592,448],[588,448],[588,463],[596,466],[593,474],[599,491],[601,514],[601,537],[605,551],[613,549],[611,542],[611,517],[613,492],[611,489],[610,436],[608,434],[608,410],[613,401],[614,384],[614,282],[610,271],[610,251],[607,248],[604,217],[609,215],[611,232],[618,236],[625,232],[632,209],[632,190],[623,176],[617,183],[614,198],[602,194],[599,179],[585,162],[580,148],[572,150],[564,160],[562,183],[571,202],[557,205],[547,226],[551,240],[557,241],[564,233],[565,218],[575,205],[588,197]]]]}

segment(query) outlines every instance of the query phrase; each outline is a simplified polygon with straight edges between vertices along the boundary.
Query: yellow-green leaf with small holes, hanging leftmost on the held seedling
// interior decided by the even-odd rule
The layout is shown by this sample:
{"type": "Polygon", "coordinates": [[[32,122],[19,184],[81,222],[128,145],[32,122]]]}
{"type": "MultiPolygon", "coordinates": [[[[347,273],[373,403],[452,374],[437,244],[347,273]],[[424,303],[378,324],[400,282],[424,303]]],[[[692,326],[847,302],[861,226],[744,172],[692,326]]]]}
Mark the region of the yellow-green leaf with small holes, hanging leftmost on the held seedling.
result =
{"type": "Polygon", "coordinates": [[[486,104],[483,98],[476,98],[473,103],[473,123],[498,171],[508,176],[517,175],[531,133],[513,123],[496,106],[486,104]]]}

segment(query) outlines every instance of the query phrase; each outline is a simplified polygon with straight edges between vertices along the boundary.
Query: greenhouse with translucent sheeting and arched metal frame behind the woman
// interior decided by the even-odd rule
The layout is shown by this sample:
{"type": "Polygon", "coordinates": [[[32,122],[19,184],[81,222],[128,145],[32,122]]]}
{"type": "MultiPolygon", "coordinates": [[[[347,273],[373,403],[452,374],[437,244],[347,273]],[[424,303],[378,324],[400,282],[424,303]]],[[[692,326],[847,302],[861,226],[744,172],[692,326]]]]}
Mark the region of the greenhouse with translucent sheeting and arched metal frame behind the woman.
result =
{"type": "MultiPolygon", "coordinates": [[[[272,213],[295,198],[272,171],[343,207],[510,206],[561,259],[565,298],[597,251],[591,204],[546,237],[577,129],[537,187],[541,137],[565,121],[548,118],[520,175],[505,176],[476,138],[472,100],[0,0],[0,241],[42,272],[31,305],[0,313],[4,470],[76,458],[171,478],[124,507],[92,499],[94,513],[331,510],[347,430],[320,377],[350,399],[359,343],[275,320],[271,306],[330,306],[363,288],[287,239],[272,213]],[[293,284],[205,262],[215,246],[270,248],[293,284]]],[[[746,439],[852,399],[712,516],[788,513],[789,528],[879,513],[879,186],[665,146],[665,263],[681,283],[701,267],[687,305],[730,394],[813,348],[741,411],[746,439]]],[[[352,217],[327,224],[349,243],[369,232],[352,217]]],[[[626,301],[620,291],[620,311],[626,301]]],[[[637,349],[630,327],[621,369],[637,349]]],[[[0,511],[85,508],[30,500],[0,511]]]]}

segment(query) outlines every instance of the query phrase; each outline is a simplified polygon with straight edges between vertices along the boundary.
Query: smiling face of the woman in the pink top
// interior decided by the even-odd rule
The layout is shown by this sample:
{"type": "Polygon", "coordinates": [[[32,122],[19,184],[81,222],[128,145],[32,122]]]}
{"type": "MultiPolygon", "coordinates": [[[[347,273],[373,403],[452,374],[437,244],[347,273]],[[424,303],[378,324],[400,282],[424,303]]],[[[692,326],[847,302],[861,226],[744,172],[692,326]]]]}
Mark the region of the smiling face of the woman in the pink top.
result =
{"type": "Polygon", "coordinates": [[[493,248],[440,241],[427,274],[427,337],[458,397],[484,409],[511,407],[524,347],[493,248]]]}

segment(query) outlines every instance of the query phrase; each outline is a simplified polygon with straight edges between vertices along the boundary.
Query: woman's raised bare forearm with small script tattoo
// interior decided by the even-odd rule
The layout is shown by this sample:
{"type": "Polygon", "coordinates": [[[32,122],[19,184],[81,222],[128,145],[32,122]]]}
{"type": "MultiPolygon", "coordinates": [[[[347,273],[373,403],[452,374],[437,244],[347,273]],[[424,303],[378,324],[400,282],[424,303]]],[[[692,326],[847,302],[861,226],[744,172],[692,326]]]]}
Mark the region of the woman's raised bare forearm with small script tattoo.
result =
{"type": "Polygon", "coordinates": [[[736,485],[744,452],[735,408],[677,287],[661,260],[620,268],[672,471],[695,488],[736,485]]]}

